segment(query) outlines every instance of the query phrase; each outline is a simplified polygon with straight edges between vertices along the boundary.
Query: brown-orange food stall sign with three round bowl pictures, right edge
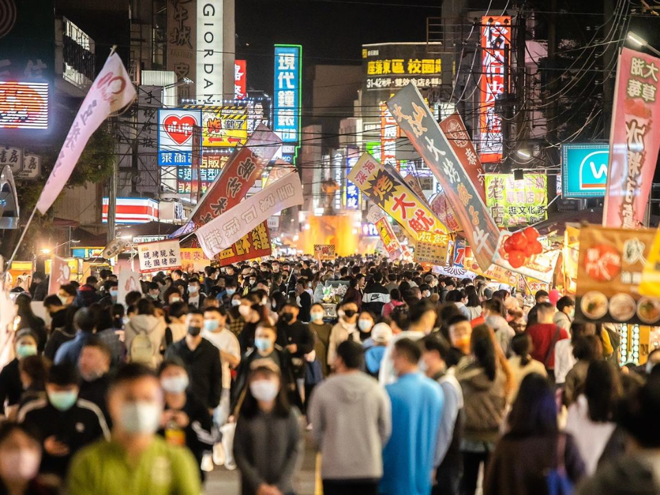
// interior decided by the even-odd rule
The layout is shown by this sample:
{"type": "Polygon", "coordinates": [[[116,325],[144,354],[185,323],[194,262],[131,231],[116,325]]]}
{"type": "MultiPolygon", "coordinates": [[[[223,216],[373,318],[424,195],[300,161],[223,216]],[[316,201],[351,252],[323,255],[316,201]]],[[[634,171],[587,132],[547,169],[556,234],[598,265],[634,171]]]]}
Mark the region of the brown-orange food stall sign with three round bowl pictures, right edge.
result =
{"type": "Polygon", "coordinates": [[[660,300],[639,295],[655,232],[585,225],[580,228],[575,316],[654,325],[660,300]]]}

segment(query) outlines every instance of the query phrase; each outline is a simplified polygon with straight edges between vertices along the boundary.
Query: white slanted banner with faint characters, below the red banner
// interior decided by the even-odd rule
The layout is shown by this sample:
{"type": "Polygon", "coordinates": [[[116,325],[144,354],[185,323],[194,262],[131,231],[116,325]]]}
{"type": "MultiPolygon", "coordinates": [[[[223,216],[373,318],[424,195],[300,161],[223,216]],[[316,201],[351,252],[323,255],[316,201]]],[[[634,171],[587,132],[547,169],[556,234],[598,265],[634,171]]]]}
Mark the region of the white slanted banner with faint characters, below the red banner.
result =
{"type": "Polygon", "coordinates": [[[201,249],[209,259],[229,248],[272,214],[303,204],[303,186],[297,172],[245,199],[195,231],[201,249]]]}

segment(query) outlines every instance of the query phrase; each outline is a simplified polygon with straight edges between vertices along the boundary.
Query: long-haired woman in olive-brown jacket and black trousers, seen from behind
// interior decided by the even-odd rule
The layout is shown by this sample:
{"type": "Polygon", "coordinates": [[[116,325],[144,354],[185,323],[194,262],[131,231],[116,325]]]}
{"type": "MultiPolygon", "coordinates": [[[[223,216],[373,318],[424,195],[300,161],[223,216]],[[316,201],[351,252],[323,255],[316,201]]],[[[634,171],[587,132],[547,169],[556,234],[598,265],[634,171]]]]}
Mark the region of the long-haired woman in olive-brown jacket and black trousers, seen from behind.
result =
{"type": "Polygon", "coordinates": [[[492,329],[478,325],[470,337],[470,355],[459,362],[456,370],[465,411],[461,441],[463,495],[473,495],[476,491],[479,468],[482,463],[487,468],[505,417],[511,380],[508,364],[498,350],[492,329]]]}

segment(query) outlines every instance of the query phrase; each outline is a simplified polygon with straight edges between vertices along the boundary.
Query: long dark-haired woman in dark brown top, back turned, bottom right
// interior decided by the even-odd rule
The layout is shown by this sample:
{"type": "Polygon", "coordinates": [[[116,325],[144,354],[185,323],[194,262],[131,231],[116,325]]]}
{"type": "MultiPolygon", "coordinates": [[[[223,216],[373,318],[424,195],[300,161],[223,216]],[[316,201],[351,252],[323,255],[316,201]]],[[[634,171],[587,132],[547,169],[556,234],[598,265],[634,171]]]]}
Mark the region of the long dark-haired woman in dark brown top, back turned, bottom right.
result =
{"type": "Polygon", "coordinates": [[[546,474],[559,465],[573,483],[582,478],[582,457],[571,435],[558,430],[555,395],[546,377],[530,373],[522,380],[508,426],[489,460],[484,495],[547,493],[546,474]]]}

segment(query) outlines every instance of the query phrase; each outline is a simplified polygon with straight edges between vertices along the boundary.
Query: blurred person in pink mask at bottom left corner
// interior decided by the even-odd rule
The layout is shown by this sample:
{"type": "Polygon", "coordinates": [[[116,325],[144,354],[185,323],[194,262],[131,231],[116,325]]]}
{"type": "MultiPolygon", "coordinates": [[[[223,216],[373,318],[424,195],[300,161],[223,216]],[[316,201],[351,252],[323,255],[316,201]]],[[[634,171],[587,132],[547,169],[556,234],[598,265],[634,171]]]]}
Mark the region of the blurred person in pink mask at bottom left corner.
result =
{"type": "Polygon", "coordinates": [[[39,476],[39,434],[25,424],[6,421],[0,425],[0,493],[56,495],[58,490],[39,476]]]}

